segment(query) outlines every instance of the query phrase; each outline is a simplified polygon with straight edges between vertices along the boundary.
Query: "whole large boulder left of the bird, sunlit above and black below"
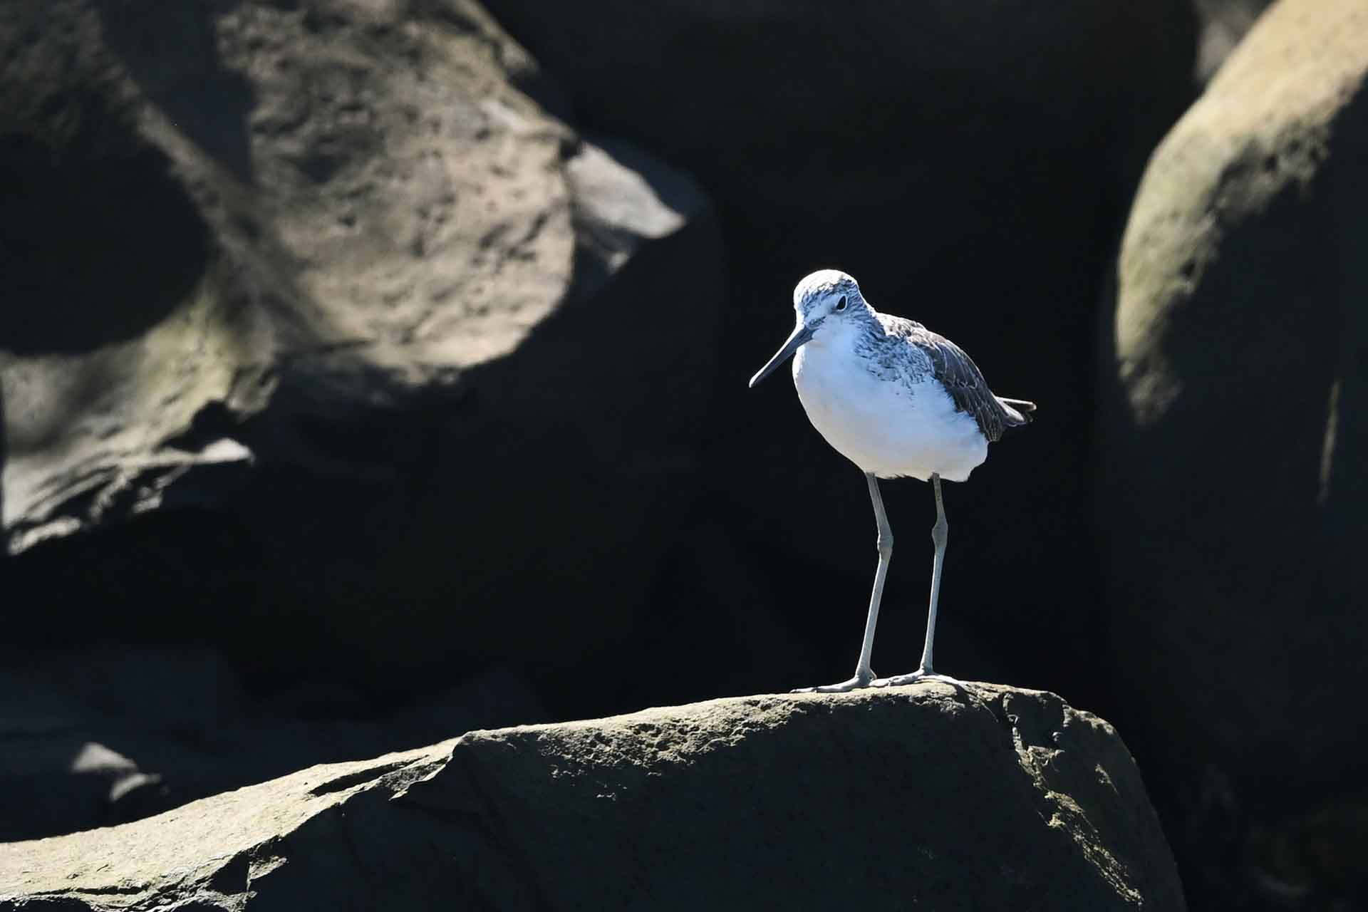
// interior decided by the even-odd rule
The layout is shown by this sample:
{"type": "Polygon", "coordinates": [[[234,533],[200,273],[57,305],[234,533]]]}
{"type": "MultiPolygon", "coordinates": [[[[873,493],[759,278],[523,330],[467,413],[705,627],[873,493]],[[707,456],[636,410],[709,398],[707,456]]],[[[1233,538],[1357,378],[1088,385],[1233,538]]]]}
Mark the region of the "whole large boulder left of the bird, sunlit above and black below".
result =
{"type": "Polygon", "coordinates": [[[527,86],[468,0],[4,4],[16,636],[412,690],[579,662],[586,580],[631,628],[689,496],[718,231],[527,86]]]}

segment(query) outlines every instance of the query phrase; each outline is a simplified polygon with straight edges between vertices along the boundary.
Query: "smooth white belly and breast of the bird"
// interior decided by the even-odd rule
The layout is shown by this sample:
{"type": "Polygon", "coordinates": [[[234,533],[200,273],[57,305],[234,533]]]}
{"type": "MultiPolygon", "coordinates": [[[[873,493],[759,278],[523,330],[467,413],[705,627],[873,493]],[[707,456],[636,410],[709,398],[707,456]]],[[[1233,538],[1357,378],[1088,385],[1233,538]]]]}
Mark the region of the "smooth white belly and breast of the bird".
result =
{"type": "Polygon", "coordinates": [[[881,479],[932,473],[964,481],[988,458],[978,423],[934,381],[881,380],[836,351],[804,345],[793,386],[808,421],[832,447],[881,479]]]}

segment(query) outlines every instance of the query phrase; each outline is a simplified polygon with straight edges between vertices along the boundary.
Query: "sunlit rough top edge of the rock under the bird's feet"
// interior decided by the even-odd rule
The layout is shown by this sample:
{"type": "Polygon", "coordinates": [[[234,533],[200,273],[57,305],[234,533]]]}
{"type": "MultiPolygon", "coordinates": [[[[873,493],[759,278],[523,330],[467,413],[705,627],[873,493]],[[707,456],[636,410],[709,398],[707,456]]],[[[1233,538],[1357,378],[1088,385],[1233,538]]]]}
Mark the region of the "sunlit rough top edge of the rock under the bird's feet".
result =
{"type": "MultiPolygon", "coordinates": [[[[565,788],[573,789],[583,788],[584,753],[594,755],[603,749],[605,736],[609,741],[618,738],[620,744],[622,740],[637,740],[644,745],[650,734],[661,730],[670,730],[676,736],[683,733],[683,740],[670,745],[674,749],[654,752],[657,748],[643,748],[650,764],[669,766],[689,763],[707,752],[732,749],[754,732],[769,727],[767,723],[772,726],[791,718],[800,708],[795,704],[825,703],[826,711],[837,711],[841,704],[852,710],[858,703],[906,697],[908,703],[926,712],[943,712],[940,704],[945,703],[945,697],[959,700],[960,696],[967,697],[966,706],[970,710],[986,708],[993,714],[1004,733],[1010,736],[1018,763],[1034,783],[1034,801],[1038,805],[1040,819],[1048,822],[1049,827],[1068,830],[1079,853],[1100,871],[1124,908],[1178,908],[1171,901],[1152,905],[1155,897],[1142,896],[1131,882],[1135,872],[1130,872],[1129,876],[1124,864],[1108,852],[1107,834],[1096,831],[1070,794],[1053,788],[1056,783],[1052,782],[1055,777],[1052,763],[1063,751],[1048,744],[1059,744],[1062,732],[1070,726],[1092,730],[1094,736],[1101,736],[1104,742],[1111,742],[1108,749],[1119,747],[1122,756],[1130,759],[1109,723],[1089,712],[1074,710],[1047,692],[989,684],[971,684],[964,689],[933,684],[852,695],[726,697],[609,719],[471,732],[460,738],[372,760],[316,766],[271,782],[202,799],[134,823],[0,845],[0,885],[4,885],[0,886],[4,890],[0,893],[0,912],[18,912],[25,908],[101,911],[153,907],[245,908],[253,896],[253,882],[290,867],[293,860],[290,837],[317,822],[320,815],[331,808],[361,800],[371,809],[378,803],[383,804],[383,814],[387,815],[402,816],[417,811],[438,820],[462,823],[477,816],[473,808],[487,803],[488,796],[476,782],[477,770],[472,762],[487,764],[491,757],[473,760],[473,753],[458,755],[457,751],[462,745],[473,748],[483,742],[487,747],[514,745],[517,749],[518,744],[538,745],[544,744],[547,738],[557,738],[566,760],[560,770],[553,766],[550,777],[553,779],[564,777],[569,782],[565,788]],[[731,732],[731,736],[718,737],[724,729],[731,732]],[[1047,732],[1047,729],[1055,730],[1047,732]],[[581,752],[579,748],[586,751],[581,752]],[[457,760],[453,771],[460,779],[454,783],[454,790],[450,781],[445,783],[446,788],[439,785],[424,790],[424,786],[436,783],[435,781],[453,760],[457,760]],[[410,797],[413,789],[419,793],[413,794],[412,800],[399,801],[410,797]],[[215,842],[215,848],[227,844],[227,849],[220,849],[207,859],[186,859],[186,846],[194,846],[197,837],[205,835],[215,842]],[[142,852],[133,853],[129,846],[141,846],[142,852]]],[[[620,767],[622,759],[621,755],[616,757],[620,767]]],[[[592,764],[587,768],[596,770],[592,764]]],[[[1100,782],[1112,792],[1120,794],[1127,790],[1127,783],[1122,783],[1122,789],[1118,790],[1101,764],[1097,766],[1097,771],[1100,782]]],[[[659,773],[647,770],[644,775],[659,775],[659,773]]],[[[595,779],[591,788],[599,785],[595,779]]],[[[1129,783],[1129,790],[1138,790],[1140,800],[1145,801],[1138,777],[1129,783]]],[[[342,811],[342,815],[345,816],[346,811],[342,811]]],[[[406,826],[410,827],[423,826],[412,816],[404,816],[401,824],[404,820],[408,820],[406,826]]],[[[1153,833],[1157,835],[1157,824],[1153,826],[1153,833]]],[[[363,860],[367,846],[356,845],[345,824],[330,826],[327,835],[345,840],[347,842],[343,846],[345,853],[363,870],[371,867],[363,860]]],[[[491,834],[484,835],[488,838],[491,834]]],[[[1144,835],[1141,834],[1142,838],[1144,835]]],[[[1157,840],[1163,842],[1161,835],[1157,835],[1157,840]]],[[[495,835],[492,841],[499,840],[495,835]]],[[[311,850],[309,846],[302,848],[304,853],[311,850]]],[[[458,852],[460,848],[453,846],[451,850],[458,852]]],[[[326,852],[335,855],[331,850],[326,852]]],[[[1163,846],[1163,852],[1167,853],[1167,846],[1163,846]]],[[[301,864],[308,868],[311,864],[316,866],[316,861],[311,861],[306,855],[301,864]]],[[[1163,861],[1160,866],[1163,867],[1163,861]]],[[[1175,893],[1181,902],[1178,891],[1181,887],[1176,886],[1171,857],[1167,860],[1167,867],[1172,882],[1170,893],[1175,893]]],[[[1153,875],[1153,871],[1149,874],[1153,875]]],[[[531,878],[531,872],[527,876],[531,878]]],[[[1166,878],[1160,875],[1160,879],[1166,878]]]]}

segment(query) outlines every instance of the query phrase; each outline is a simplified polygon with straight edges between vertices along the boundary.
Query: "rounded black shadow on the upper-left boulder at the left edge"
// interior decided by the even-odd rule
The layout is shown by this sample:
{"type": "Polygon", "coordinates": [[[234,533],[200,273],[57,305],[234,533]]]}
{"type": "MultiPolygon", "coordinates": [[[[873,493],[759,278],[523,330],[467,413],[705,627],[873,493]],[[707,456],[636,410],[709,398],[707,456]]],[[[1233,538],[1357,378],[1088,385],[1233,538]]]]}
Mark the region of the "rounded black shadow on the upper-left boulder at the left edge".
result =
{"type": "Polygon", "coordinates": [[[208,230],[170,167],[137,141],[53,149],[0,135],[0,349],[89,351],[138,336],[185,302],[204,272],[208,230]]]}

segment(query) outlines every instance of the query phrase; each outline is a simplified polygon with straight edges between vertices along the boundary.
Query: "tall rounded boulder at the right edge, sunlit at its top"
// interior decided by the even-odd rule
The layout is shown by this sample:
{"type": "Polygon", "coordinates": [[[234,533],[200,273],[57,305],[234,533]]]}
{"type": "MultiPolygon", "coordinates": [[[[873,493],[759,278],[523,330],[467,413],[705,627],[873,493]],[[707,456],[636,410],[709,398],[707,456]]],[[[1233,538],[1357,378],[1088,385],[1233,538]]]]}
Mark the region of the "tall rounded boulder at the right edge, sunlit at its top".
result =
{"type": "Polygon", "coordinates": [[[1356,855],[1306,866],[1259,833],[1357,793],[1368,749],[1346,703],[1368,652],[1365,75],[1361,3],[1264,14],[1150,161],[1103,342],[1108,659],[1137,753],[1190,783],[1167,804],[1211,896],[1361,889],[1356,855]]]}

